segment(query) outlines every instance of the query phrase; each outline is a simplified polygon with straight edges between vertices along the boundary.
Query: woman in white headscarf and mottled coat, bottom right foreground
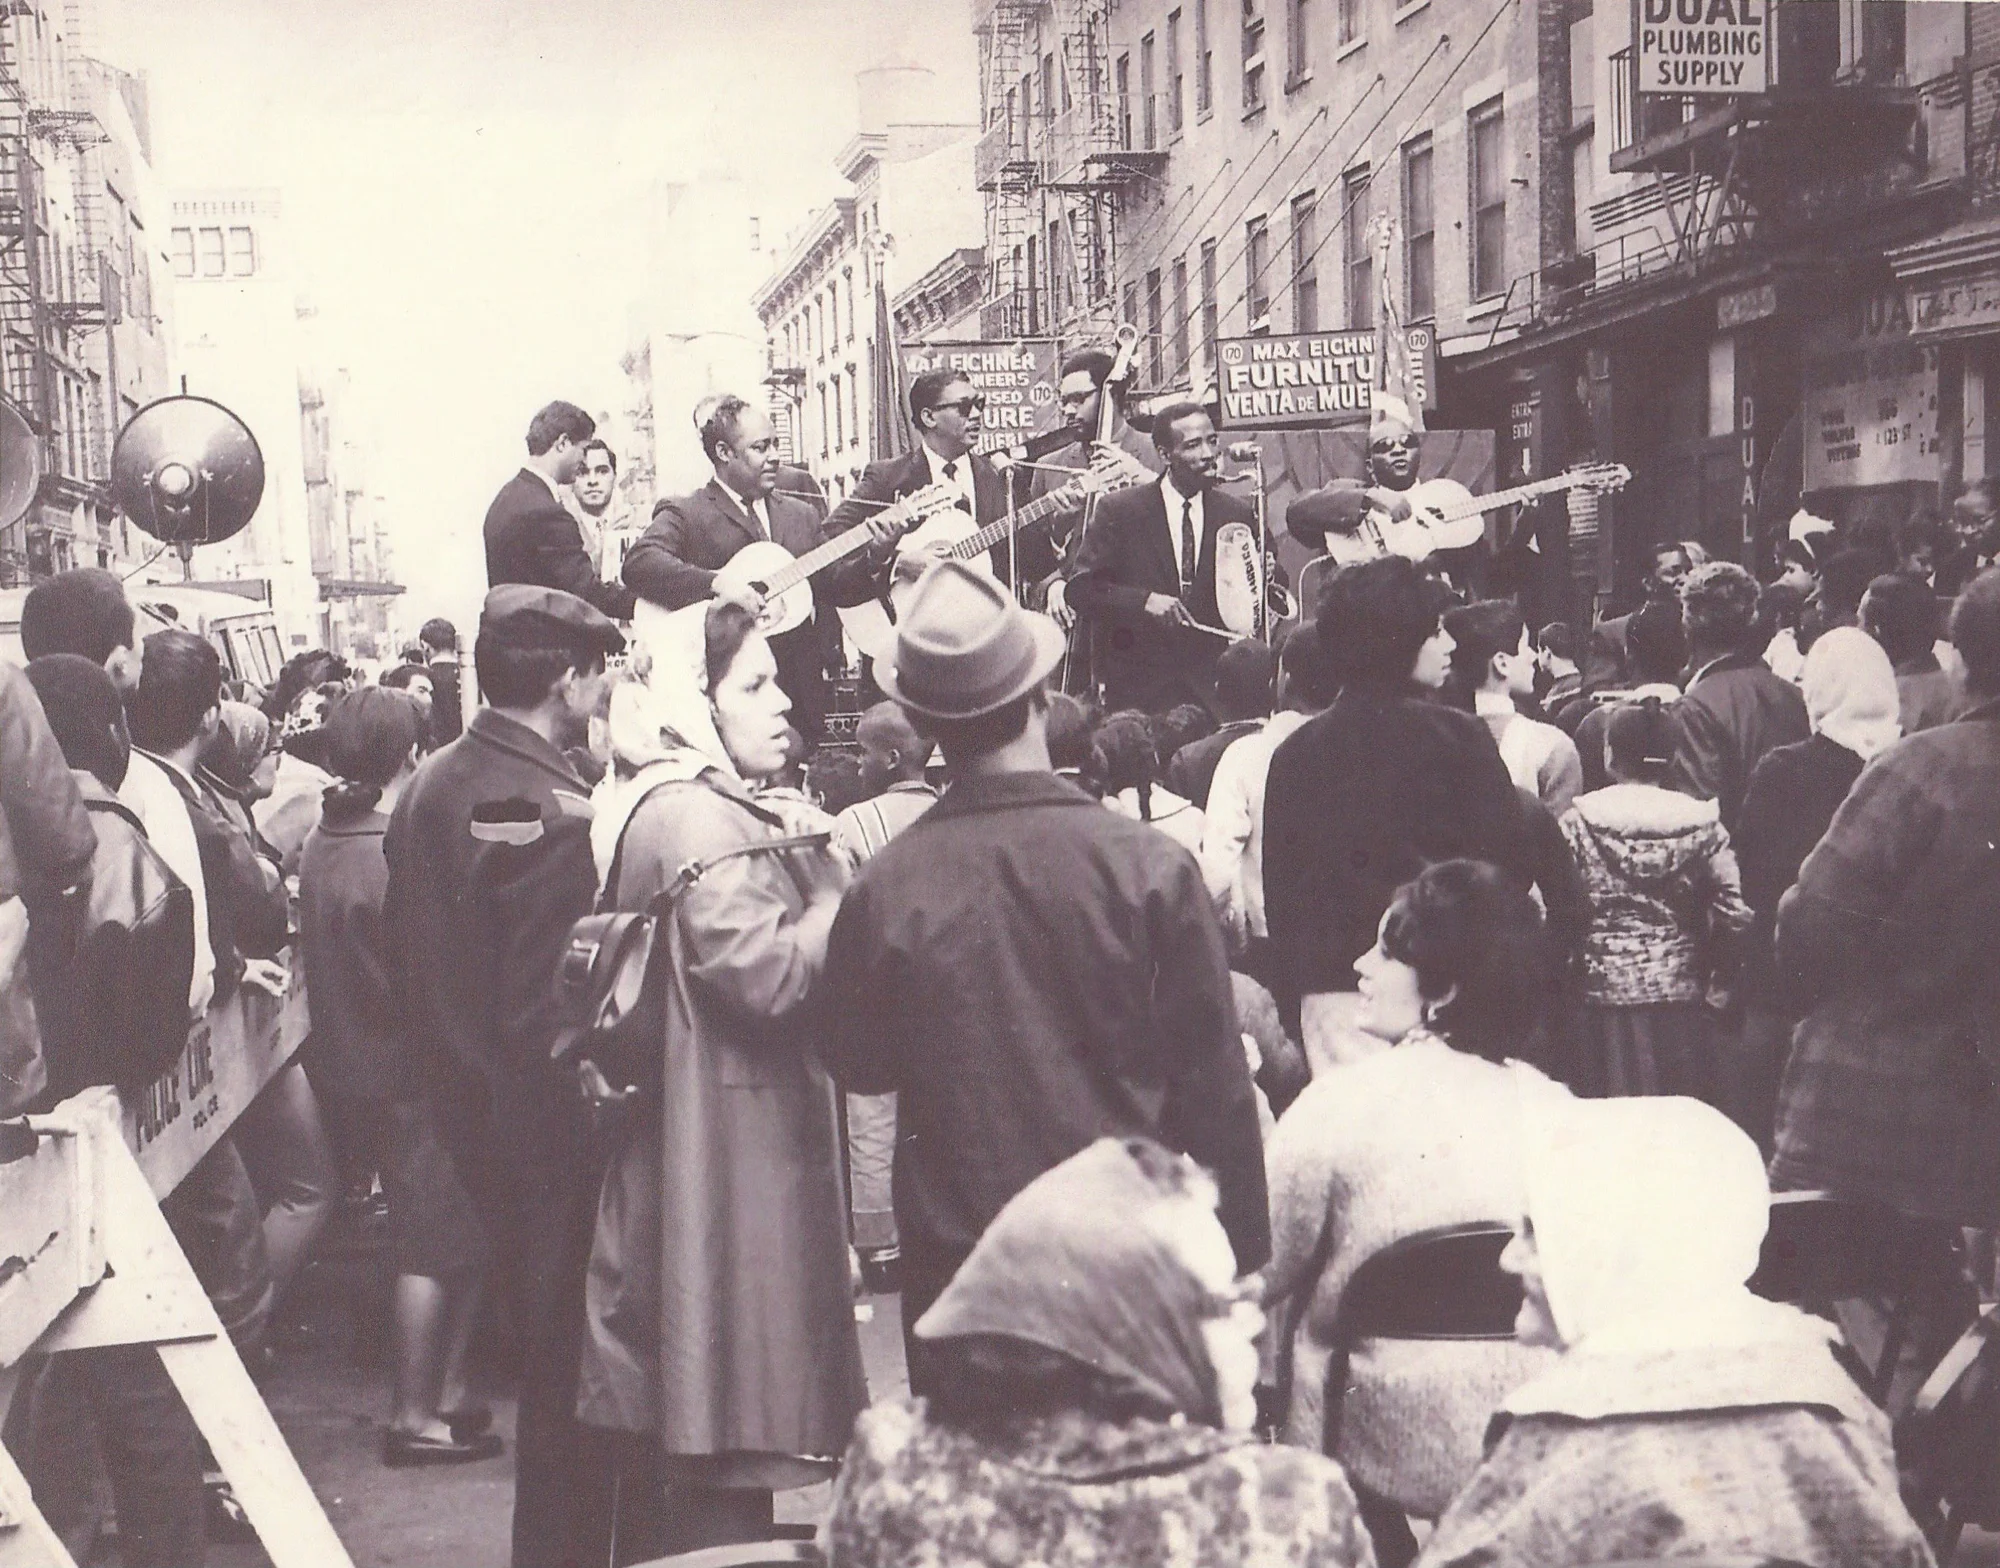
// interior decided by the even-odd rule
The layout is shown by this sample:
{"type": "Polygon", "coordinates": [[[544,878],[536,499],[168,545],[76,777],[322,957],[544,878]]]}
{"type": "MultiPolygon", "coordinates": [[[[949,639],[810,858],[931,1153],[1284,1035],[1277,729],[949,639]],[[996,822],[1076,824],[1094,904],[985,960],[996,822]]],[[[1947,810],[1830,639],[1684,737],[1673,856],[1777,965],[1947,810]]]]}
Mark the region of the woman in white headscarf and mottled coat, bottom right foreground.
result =
{"type": "Polygon", "coordinates": [[[1420,1568],[1662,1558],[1928,1568],[1888,1420],[1832,1326],[1750,1294],[1756,1146],[1696,1100],[1522,1086],[1516,1334],[1562,1360],[1500,1406],[1420,1568]]]}

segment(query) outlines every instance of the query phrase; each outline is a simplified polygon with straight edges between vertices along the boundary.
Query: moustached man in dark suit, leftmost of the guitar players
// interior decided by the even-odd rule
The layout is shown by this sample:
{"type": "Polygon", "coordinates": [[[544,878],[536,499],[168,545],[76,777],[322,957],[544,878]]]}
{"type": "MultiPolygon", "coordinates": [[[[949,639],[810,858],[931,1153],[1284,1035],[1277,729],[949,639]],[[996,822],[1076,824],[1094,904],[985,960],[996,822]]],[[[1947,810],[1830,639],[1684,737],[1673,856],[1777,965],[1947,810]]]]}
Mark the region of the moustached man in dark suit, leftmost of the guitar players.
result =
{"type": "MultiPolygon", "coordinates": [[[[764,594],[722,572],[756,540],[776,540],[794,556],[820,542],[812,502],[778,488],[778,432],[770,416],[742,398],[718,398],[702,422],[702,450],[716,476],[692,496],[652,508],[652,526],[626,554],[624,580],[640,598],[680,610],[704,598],[728,598],[752,614],[764,594]]],[[[826,728],[826,592],[814,584],[814,618],[770,640],[778,684],[792,698],[792,722],[808,744],[826,728]]]]}

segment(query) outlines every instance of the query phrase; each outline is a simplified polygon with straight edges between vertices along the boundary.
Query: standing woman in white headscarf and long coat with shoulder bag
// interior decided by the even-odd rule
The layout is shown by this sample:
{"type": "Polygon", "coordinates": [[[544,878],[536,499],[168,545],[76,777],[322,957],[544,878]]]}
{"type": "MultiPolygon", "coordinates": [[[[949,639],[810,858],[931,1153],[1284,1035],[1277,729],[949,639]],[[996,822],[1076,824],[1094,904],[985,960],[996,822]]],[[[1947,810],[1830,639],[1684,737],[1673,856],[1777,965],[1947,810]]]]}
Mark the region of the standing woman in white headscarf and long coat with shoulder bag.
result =
{"type": "Polygon", "coordinates": [[[868,1400],[836,1092],[802,1028],[844,874],[824,844],[784,848],[754,796],[786,764],[790,702],[750,614],[694,604],[650,642],[648,684],[612,698],[606,900],[670,892],[664,1040],[652,1082],[592,1086],[632,1104],[578,1392],[628,1438],[618,1538],[638,1556],[766,1536],[772,1492],[832,1476],[868,1400]]]}

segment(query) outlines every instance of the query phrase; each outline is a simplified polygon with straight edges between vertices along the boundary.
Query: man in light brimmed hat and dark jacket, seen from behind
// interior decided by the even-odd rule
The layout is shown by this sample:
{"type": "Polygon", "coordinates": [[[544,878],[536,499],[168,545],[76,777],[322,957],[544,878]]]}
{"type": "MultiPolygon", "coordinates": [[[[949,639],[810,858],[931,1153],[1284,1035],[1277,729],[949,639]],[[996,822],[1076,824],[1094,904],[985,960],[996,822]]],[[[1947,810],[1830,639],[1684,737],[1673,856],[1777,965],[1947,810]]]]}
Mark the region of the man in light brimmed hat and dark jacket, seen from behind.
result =
{"type": "MultiPolygon", "coordinates": [[[[952,784],[840,904],[822,1050],[848,1092],[900,1094],[906,1330],[1008,1198],[1106,1134],[1192,1154],[1216,1174],[1238,1266],[1270,1256],[1222,928],[1194,856],[1052,772],[1062,646],[1052,620],[946,562],[876,666],[952,784]]],[[[910,1386],[924,1382],[916,1344],[910,1386]]]]}

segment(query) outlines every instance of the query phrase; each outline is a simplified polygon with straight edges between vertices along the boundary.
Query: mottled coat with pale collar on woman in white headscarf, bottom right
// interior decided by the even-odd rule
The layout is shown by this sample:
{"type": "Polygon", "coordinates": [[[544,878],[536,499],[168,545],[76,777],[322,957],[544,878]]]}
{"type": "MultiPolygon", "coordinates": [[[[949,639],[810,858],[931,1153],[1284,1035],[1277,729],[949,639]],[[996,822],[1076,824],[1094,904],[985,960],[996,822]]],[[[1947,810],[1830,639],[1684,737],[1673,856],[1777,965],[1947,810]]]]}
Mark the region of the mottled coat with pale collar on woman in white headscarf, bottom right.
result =
{"type": "Polygon", "coordinates": [[[1824,1344],[1578,1354],[1508,1400],[1418,1568],[1930,1568],[1888,1420],[1824,1344]]]}

